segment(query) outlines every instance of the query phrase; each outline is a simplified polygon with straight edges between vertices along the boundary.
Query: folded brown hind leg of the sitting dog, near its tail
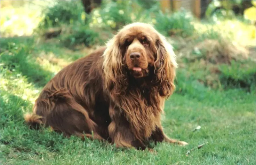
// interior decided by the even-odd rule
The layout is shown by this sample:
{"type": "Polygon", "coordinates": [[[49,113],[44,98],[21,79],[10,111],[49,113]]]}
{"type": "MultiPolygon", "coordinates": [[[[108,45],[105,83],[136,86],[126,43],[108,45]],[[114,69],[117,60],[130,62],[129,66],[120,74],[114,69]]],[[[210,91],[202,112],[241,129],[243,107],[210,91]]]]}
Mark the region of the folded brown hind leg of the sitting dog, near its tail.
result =
{"type": "Polygon", "coordinates": [[[67,137],[76,135],[81,138],[103,140],[104,138],[97,133],[97,124],[90,119],[88,112],[75,100],[63,99],[65,98],[56,101],[46,115],[47,125],[67,137]]]}

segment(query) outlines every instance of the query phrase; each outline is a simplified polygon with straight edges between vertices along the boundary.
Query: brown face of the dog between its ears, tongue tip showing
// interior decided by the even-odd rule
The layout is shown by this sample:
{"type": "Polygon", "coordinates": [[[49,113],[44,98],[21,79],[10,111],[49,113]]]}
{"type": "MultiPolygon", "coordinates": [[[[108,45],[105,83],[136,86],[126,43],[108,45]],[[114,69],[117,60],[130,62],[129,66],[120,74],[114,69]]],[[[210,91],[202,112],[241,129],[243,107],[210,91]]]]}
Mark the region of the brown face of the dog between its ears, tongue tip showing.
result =
{"type": "Polygon", "coordinates": [[[154,67],[157,58],[154,40],[155,36],[139,27],[119,32],[119,47],[123,51],[122,62],[135,78],[148,76],[149,67],[154,67]]]}

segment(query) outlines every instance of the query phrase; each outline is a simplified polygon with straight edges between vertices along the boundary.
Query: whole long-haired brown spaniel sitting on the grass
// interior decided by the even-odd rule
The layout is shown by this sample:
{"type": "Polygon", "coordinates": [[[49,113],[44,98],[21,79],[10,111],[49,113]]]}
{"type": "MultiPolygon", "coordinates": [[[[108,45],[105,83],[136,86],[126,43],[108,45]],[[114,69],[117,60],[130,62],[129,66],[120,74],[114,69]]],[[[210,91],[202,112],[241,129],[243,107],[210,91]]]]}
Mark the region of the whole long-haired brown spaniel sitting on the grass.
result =
{"type": "Polygon", "coordinates": [[[108,140],[116,147],[145,149],[151,140],[186,145],[168,138],[161,125],[176,67],[163,35],[149,24],[129,24],[106,47],[55,75],[25,120],[31,128],[49,126],[67,137],[108,140]]]}

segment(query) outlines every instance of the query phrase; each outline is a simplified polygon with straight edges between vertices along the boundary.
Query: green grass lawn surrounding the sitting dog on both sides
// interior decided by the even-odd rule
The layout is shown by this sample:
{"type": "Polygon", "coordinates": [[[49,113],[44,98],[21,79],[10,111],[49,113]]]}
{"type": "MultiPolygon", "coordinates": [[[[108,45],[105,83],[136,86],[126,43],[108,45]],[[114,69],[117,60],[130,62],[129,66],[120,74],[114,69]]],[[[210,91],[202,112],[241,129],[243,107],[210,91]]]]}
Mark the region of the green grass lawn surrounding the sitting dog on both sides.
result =
{"type": "Polygon", "coordinates": [[[179,75],[178,86],[185,90],[177,90],[166,101],[163,126],[169,137],[188,146],[157,144],[154,155],[88,139],[67,139],[48,129],[29,130],[23,114],[31,112],[44,84],[62,68],[51,59],[69,63],[87,54],[55,41],[36,41],[1,39],[1,164],[255,164],[255,93],[211,90],[179,75]],[[193,132],[198,125],[201,129],[193,132]],[[187,150],[204,142],[209,144],[186,156],[187,150]]]}

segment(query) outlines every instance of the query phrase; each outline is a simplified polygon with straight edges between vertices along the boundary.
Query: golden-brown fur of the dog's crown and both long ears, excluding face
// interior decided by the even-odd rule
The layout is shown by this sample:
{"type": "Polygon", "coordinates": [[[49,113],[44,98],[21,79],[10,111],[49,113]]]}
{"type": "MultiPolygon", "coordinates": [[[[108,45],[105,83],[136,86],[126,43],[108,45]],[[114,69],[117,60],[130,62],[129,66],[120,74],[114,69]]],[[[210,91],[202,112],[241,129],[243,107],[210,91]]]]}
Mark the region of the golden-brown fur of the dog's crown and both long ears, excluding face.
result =
{"type": "Polygon", "coordinates": [[[148,39],[149,46],[147,49],[156,53],[154,68],[157,86],[161,95],[168,97],[175,89],[173,84],[177,67],[175,54],[165,37],[151,25],[145,23],[133,23],[125,26],[107,43],[107,49],[103,54],[105,87],[116,95],[121,94],[127,88],[127,76],[124,72],[125,62],[123,61],[125,52],[122,49],[122,44],[125,43],[127,37],[134,39],[141,36],[148,39]]]}

